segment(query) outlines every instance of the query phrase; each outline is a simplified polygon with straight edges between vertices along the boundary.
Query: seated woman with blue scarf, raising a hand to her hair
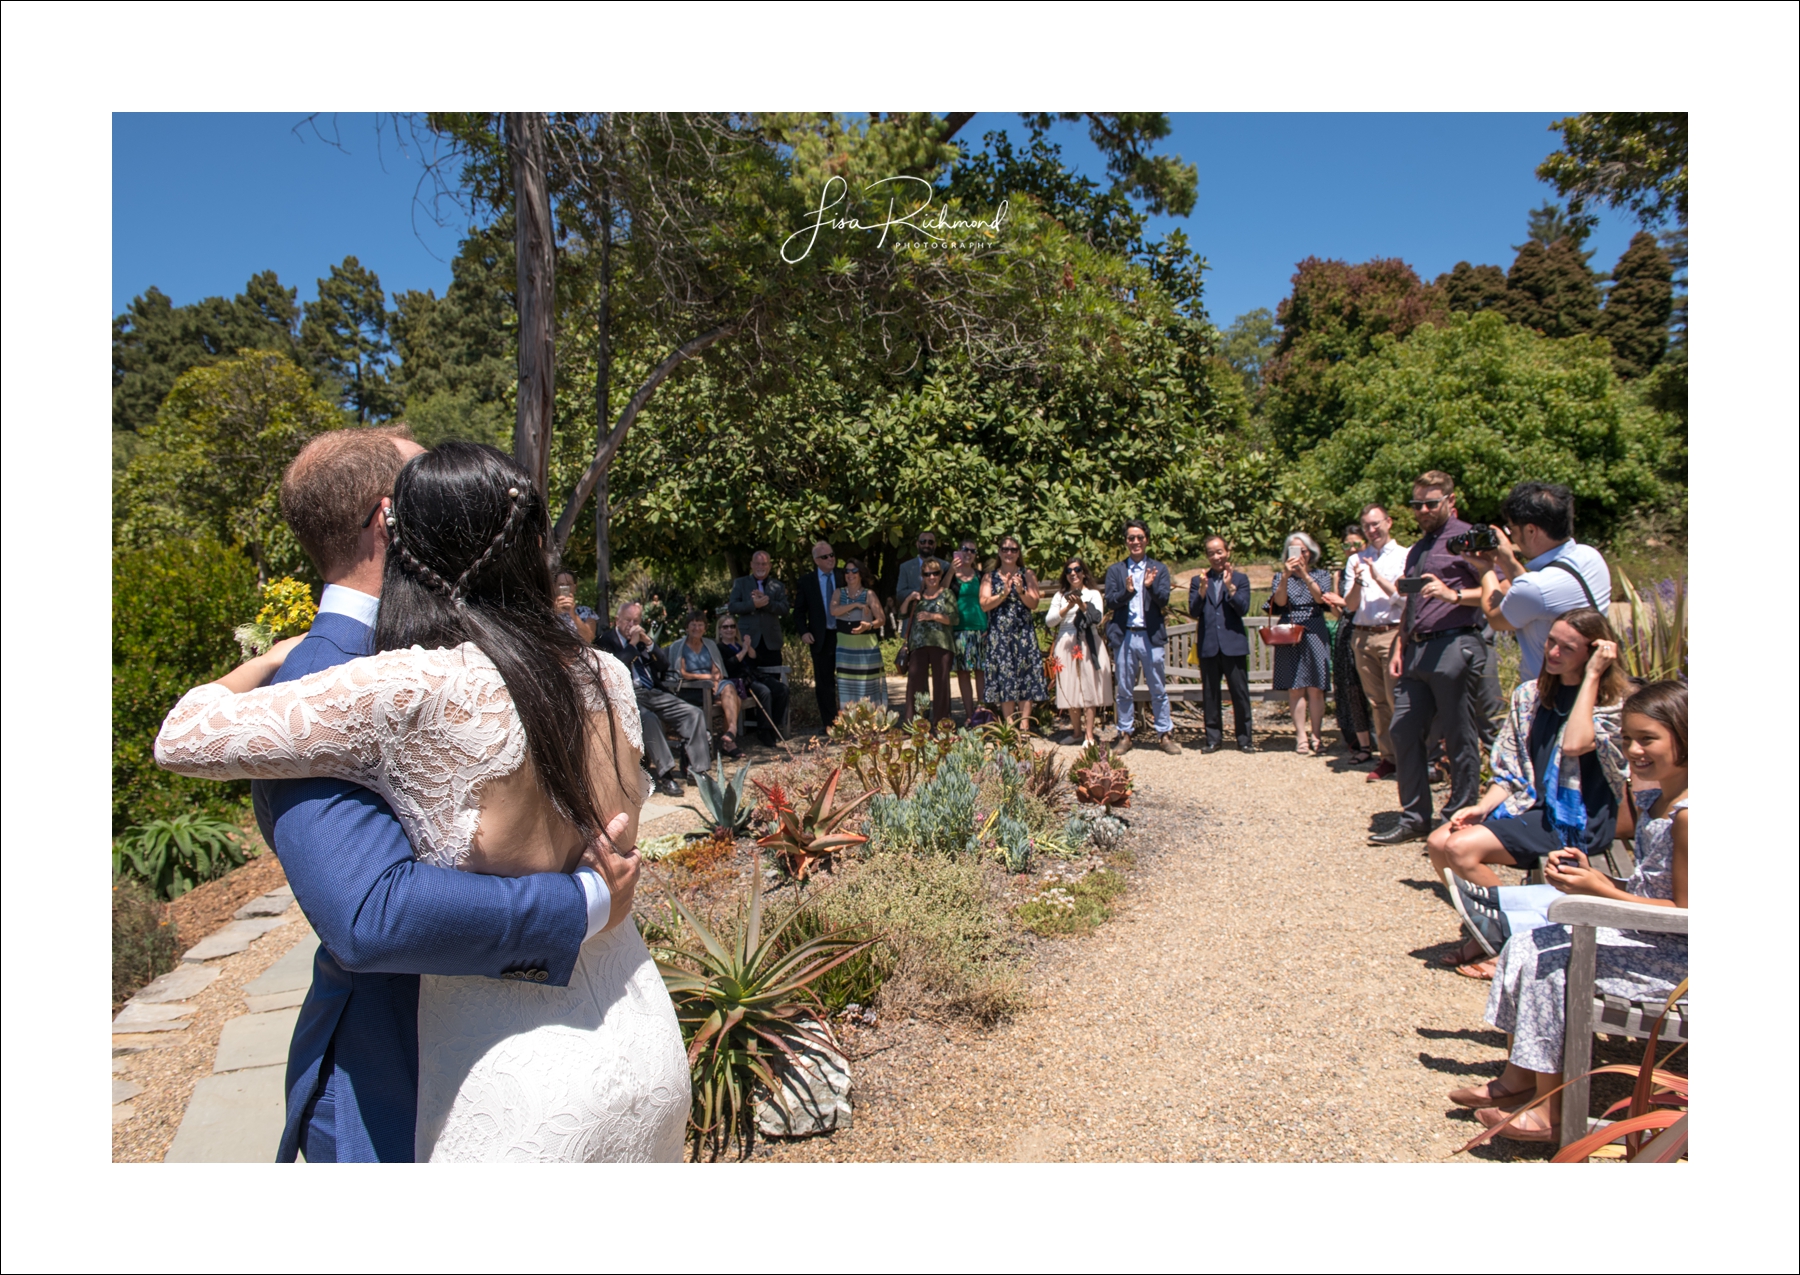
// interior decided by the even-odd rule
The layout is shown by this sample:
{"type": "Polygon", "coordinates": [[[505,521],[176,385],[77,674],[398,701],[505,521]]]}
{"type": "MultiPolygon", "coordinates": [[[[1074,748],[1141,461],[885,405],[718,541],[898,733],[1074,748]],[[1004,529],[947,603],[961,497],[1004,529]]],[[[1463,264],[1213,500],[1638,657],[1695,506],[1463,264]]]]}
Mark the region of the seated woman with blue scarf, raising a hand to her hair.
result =
{"type": "MultiPolygon", "coordinates": [[[[1507,724],[1494,740],[1494,782],[1476,805],[1456,810],[1426,841],[1431,866],[1478,886],[1499,886],[1490,864],[1537,868],[1575,846],[1600,854],[1613,845],[1625,792],[1618,742],[1618,702],[1625,695],[1618,641],[1598,610],[1564,612],[1544,641],[1544,670],[1512,693],[1507,724]]],[[[1548,906],[1548,904],[1544,904],[1548,906]]],[[[1474,935],[1451,962],[1469,978],[1492,978],[1498,945],[1474,935]]]]}

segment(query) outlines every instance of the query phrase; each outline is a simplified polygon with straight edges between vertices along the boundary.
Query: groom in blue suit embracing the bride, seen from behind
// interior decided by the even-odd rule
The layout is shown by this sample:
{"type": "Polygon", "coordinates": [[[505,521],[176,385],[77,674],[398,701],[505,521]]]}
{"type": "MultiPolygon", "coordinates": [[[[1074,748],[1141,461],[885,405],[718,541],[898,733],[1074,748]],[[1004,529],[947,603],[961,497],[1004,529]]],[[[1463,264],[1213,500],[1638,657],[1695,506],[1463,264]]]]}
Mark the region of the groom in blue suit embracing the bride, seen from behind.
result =
{"type": "MultiPolygon", "coordinates": [[[[326,589],[275,681],[374,654],[389,497],[421,450],[394,430],[333,430],[281,475],[281,513],[326,589]]],[[[412,1160],[419,974],[565,987],[581,944],[630,913],[637,861],[616,870],[617,893],[594,866],[531,877],[434,868],[412,857],[400,819],[369,789],[277,780],[254,791],[263,837],[319,933],[275,1158],[412,1160]]]]}

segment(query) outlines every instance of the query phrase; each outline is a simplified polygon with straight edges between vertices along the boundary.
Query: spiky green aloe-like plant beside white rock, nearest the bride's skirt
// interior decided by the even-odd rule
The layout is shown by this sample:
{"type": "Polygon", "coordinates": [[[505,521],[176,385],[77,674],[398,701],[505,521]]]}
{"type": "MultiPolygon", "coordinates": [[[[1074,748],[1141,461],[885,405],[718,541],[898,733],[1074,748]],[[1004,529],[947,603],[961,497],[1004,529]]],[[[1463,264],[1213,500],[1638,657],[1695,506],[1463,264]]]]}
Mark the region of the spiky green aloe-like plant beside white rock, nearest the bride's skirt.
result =
{"type": "Polygon", "coordinates": [[[776,1066],[797,1061],[805,1048],[837,1048],[812,983],[875,942],[832,931],[783,945],[799,911],[763,935],[761,879],[761,863],[754,863],[749,902],[738,909],[738,926],[729,936],[713,935],[675,900],[700,949],[666,947],[662,954],[671,960],[657,962],[693,1068],[688,1136],[695,1154],[709,1145],[713,1160],[731,1145],[740,1156],[749,1154],[756,1138],[758,1084],[785,1108],[776,1066]]]}

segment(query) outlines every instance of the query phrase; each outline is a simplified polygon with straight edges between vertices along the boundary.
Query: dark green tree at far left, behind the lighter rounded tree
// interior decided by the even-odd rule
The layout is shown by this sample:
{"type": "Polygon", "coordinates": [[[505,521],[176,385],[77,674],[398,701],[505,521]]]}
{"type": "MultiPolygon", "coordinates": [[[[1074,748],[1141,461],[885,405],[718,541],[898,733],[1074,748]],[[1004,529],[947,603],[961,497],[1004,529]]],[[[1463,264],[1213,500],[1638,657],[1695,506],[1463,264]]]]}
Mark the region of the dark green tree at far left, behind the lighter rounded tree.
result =
{"type": "MultiPolygon", "coordinates": [[[[274,270],[254,276],[232,299],[176,306],[160,288],[133,297],[113,319],[113,430],[139,434],[189,367],[239,349],[295,353],[299,308],[274,270]]],[[[130,448],[126,448],[130,456],[130,448]]]]}

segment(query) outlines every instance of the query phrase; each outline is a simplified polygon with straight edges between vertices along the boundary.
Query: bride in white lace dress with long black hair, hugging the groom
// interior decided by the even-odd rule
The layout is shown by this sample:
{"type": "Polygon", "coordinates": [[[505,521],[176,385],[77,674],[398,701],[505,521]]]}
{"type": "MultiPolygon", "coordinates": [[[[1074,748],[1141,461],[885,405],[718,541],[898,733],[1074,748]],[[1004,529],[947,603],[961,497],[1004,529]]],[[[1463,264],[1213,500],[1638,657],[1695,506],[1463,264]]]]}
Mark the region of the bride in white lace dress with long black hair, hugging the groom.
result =
{"type": "MultiPolygon", "coordinates": [[[[360,783],[419,859],[463,872],[572,872],[596,839],[635,845],[637,702],[625,668],[558,621],[545,533],[504,452],[414,457],[394,483],[378,654],[261,686],[299,639],[281,643],[187,692],[157,762],[360,783]]],[[[587,940],[567,987],[421,978],[418,1160],[680,1160],[688,1108],[675,1010],[628,920],[587,940]]]]}

